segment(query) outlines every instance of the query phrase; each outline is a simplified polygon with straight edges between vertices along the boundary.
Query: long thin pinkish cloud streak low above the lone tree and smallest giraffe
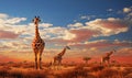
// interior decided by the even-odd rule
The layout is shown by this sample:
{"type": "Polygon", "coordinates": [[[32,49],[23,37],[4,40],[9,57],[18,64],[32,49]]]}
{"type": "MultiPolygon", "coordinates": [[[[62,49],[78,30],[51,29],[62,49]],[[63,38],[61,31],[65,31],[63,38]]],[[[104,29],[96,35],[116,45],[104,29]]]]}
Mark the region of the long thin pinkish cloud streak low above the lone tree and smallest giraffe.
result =
{"type": "Polygon", "coordinates": [[[116,48],[116,47],[131,47],[132,42],[127,41],[107,41],[107,40],[99,40],[99,41],[91,41],[91,42],[84,42],[84,43],[70,43],[68,44],[72,47],[76,48],[97,48],[97,49],[103,49],[103,48],[116,48]]]}

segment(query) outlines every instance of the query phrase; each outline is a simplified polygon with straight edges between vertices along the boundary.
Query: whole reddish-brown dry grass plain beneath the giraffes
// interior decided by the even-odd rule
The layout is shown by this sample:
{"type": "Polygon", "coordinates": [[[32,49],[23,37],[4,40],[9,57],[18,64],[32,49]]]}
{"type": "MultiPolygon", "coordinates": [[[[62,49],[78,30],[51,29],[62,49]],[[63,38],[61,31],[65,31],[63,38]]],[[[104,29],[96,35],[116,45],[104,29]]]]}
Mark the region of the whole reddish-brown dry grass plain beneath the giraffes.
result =
{"type": "Polygon", "coordinates": [[[43,70],[35,70],[33,63],[0,64],[0,78],[132,78],[132,66],[105,67],[101,65],[74,65],[50,69],[43,64],[43,70]]]}

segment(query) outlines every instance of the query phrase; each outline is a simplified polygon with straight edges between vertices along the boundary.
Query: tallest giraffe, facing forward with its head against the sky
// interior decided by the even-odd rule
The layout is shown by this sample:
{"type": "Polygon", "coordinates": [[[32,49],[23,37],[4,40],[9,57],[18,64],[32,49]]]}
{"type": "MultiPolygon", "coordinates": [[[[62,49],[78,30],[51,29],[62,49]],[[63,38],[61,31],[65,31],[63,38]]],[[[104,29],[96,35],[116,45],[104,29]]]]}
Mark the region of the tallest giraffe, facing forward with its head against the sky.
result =
{"type": "Polygon", "coordinates": [[[42,69],[42,53],[45,47],[44,41],[41,38],[38,33],[38,22],[41,22],[40,16],[35,16],[33,19],[34,25],[35,25],[35,37],[32,42],[32,48],[35,54],[35,68],[42,69]]]}

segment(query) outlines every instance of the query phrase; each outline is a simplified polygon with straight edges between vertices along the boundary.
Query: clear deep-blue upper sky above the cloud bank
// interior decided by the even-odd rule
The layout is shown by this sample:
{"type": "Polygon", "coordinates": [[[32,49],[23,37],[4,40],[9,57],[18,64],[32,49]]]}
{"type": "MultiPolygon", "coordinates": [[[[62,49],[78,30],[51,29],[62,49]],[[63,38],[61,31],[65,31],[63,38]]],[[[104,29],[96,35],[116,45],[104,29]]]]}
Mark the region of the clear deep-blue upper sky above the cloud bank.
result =
{"type": "MultiPolygon", "coordinates": [[[[131,4],[131,0],[1,0],[0,11],[12,16],[26,16],[29,22],[34,15],[40,15],[44,22],[65,26],[80,15],[108,18],[108,9],[119,11],[131,4]]],[[[122,15],[113,13],[112,16],[122,15]]]]}

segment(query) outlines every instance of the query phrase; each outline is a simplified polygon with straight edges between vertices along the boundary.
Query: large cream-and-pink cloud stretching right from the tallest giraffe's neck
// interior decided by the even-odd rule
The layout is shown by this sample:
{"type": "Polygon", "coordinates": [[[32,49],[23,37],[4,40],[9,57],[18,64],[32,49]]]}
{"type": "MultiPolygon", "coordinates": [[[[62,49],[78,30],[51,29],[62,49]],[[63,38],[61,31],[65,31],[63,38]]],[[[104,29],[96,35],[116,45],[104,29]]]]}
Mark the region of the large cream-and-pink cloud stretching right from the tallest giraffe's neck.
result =
{"type": "Polygon", "coordinates": [[[44,29],[43,32],[45,31],[45,35],[43,36],[47,35],[48,37],[46,38],[46,41],[50,43],[54,43],[56,45],[62,44],[66,45],[77,44],[80,42],[85,43],[92,37],[111,36],[120,34],[122,32],[127,32],[129,30],[129,26],[125,24],[124,21],[114,18],[96,19],[86,22],[85,25],[82,23],[75,23],[68,25],[68,27],[69,29],[66,27],[44,29]]]}

